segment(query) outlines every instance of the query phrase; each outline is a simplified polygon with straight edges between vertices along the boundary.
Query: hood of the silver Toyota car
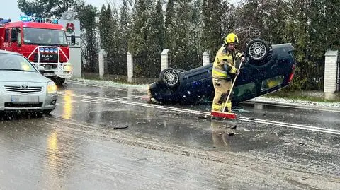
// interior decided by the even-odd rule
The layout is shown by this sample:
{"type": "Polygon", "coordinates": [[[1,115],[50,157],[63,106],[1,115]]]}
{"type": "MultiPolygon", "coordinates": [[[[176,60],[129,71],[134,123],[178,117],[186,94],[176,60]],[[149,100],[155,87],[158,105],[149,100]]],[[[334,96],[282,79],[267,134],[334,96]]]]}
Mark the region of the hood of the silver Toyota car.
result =
{"type": "Polygon", "coordinates": [[[47,83],[50,79],[40,73],[25,71],[0,71],[0,82],[34,82],[47,83]]]}

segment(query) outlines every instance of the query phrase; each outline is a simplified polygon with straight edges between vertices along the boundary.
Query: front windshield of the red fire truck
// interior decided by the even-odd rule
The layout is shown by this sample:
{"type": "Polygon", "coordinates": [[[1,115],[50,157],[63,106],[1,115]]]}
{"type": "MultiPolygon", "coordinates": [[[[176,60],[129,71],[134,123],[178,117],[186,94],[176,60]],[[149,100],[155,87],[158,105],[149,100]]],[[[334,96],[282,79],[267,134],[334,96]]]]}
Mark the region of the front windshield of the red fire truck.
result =
{"type": "Polygon", "coordinates": [[[23,28],[23,43],[67,46],[64,30],[51,30],[45,28],[23,28]]]}

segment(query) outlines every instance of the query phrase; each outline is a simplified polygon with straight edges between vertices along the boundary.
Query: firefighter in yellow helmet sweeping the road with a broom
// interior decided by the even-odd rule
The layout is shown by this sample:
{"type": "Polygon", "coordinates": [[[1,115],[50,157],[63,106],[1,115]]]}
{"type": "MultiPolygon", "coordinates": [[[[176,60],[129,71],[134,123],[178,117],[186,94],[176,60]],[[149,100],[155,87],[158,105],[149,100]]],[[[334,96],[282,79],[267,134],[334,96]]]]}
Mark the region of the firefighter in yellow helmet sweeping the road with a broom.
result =
{"type": "MultiPolygon", "coordinates": [[[[223,46],[217,51],[212,66],[212,83],[215,89],[215,97],[212,102],[212,111],[222,111],[228,93],[232,87],[232,75],[236,74],[235,62],[237,57],[244,61],[244,55],[235,49],[239,39],[234,33],[225,37],[223,46]]],[[[232,112],[232,97],[227,102],[227,112],[232,112]]]]}

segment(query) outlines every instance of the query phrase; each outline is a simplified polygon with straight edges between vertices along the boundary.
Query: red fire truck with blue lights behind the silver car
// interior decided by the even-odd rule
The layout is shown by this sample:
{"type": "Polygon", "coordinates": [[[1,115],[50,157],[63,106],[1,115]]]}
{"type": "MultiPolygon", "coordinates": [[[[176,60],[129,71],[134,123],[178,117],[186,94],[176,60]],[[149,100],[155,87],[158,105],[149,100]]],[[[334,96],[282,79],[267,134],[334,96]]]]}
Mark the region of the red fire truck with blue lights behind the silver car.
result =
{"type": "Polygon", "coordinates": [[[72,76],[65,30],[57,19],[21,16],[21,21],[11,22],[0,18],[0,49],[18,52],[35,66],[43,66],[42,74],[58,85],[72,76]]]}

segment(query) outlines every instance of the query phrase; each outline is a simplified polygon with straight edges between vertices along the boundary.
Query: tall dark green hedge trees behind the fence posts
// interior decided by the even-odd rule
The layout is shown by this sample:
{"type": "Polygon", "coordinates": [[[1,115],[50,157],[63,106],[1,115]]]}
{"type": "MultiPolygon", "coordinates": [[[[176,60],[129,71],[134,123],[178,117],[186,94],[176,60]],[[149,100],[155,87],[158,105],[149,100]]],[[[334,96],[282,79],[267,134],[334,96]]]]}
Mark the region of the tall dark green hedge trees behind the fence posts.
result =
{"type": "Polygon", "coordinates": [[[84,0],[18,0],[18,6],[23,13],[42,17],[61,16],[68,8],[78,11],[86,60],[95,61],[89,56],[94,54],[98,27],[100,46],[108,51],[109,67],[116,74],[126,74],[128,51],[137,76],[158,76],[162,49],[170,49],[171,67],[192,69],[202,64],[205,49],[213,59],[227,33],[236,32],[240,50],[256,37],[271,44],[292,43],[297,68],[288,90],[323,89],[324,53],[340,47],[339,0],[244,0],[237,6],[228,2],[123,0],[119,14],[103,5],[98,25],[93,20],[96,10],[84,6],[84,0]]]}

